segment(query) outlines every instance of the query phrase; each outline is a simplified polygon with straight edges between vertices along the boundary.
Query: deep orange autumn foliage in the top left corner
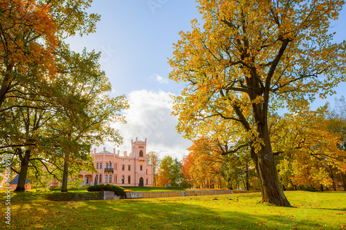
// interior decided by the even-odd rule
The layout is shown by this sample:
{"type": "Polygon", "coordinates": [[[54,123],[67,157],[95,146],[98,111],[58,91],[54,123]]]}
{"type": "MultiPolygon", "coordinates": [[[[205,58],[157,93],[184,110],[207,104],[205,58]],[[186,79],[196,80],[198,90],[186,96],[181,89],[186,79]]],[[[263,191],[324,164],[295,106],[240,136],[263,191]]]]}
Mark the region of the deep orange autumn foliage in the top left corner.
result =
{"type": "Polygon", "coordinates": [[[55,74],[52,52],[57,46],[57,28],[50,6],[37,1],[0,0],[1,64],[10,71],[26,73],[28,66],[42,66],[55,74]]]}

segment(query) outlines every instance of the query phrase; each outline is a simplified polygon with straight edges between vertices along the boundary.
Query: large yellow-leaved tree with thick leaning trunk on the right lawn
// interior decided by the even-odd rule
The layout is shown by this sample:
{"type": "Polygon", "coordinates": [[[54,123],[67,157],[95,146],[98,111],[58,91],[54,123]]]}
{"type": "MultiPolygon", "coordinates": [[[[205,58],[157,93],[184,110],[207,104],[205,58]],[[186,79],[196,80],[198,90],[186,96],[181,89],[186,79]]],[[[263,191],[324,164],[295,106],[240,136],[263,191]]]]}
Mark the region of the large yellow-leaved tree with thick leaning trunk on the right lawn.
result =
{"type": "MultiPolygon", "coordinates": [[[[194,19],[174,44],[170,79],[187,84],[175,98],[178,130],[203,135],[211,117],[242,126],[262,202],[290,206],[277,176],[268,115],[305,106],[345,80],[346,43],[334,44],[329,32],[343,3],[199,0],[203,28],[194,19]]],[[[233,147],[230,152],[242,148],[233,147]]]]}

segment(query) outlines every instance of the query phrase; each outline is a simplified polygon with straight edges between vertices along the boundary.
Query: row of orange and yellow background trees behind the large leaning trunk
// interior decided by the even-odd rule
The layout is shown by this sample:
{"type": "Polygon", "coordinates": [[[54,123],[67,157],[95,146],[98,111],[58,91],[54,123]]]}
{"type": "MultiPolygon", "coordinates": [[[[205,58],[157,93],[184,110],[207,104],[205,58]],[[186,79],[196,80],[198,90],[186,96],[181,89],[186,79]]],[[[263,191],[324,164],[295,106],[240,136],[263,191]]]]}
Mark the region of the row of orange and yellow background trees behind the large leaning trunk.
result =
{"type": "MultiPolygon", "coordinates": [[[[325,106],[318,111],[271,116],[270,135],[284,190],[336,190],[337,184],[346,190],[346,104],[343,97],[337,102],[334,110],[327,111],[325,106]]],[[[232,154],[227,149],[227,144],[210,137],[194,140],[182,161],[184,180],[202,188],[210,188],[212,181],[219,188],[260,189],[250,148],[244,146],[232,154]]]]}

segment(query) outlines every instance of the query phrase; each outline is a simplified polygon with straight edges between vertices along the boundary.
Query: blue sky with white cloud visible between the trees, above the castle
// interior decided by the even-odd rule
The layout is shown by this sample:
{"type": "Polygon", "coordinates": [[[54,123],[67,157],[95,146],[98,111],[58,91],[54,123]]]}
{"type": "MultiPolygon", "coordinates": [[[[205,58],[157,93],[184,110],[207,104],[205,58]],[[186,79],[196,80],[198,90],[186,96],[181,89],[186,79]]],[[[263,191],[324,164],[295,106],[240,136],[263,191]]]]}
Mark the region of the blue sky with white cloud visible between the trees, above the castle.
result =
{"type": "MultiPolygon", "coordinates": [[[[201,21],[193,0],[94,0],[89,12],[101,15],[95,33],[68,40],[75,51],[97,50],[112,84],[113,95],[125,94],[131,108],[125,112],[126,125],[116,125],[124,137],[120,151],[130,151],[131,139],[147,138],[148,151],[158,151],[161,157],[172,155],[182,158],[191,142],[176,133],[177,120],[170,116],[170,93],[179,94],[183,85],[168,79],[173,43],[179,40],[179,31],[188,31],[190,21],[201,21]]],[[[346,10],[340,12],[338,21],[331,23],[336,31],[336,41],[346,37],[346,10]]],[[[336,88],[336,95],[326,100],[317,99],[312,109],[346,96],[346,83],[336,88]]],[[[108,149],[113,144],[105,144],[108,149]]],[[[102,149],[102,146],[98,147],[102,149]]],[[[117,146],[116,146],[117,148],[117,146]]]]}

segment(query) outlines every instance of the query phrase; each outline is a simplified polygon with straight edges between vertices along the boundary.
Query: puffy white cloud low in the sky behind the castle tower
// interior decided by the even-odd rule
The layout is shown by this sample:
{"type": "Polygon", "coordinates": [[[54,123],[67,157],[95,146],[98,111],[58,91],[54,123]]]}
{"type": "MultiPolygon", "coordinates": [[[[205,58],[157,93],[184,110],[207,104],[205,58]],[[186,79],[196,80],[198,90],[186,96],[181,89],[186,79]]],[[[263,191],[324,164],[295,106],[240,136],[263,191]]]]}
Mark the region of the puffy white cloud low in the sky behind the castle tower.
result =
{"type": "MultiPolygon", "coordinates": [[[[161,157],[170,155],[179,160],[188,155],[186,148],[191,146],[190,140],[185,140],[176,133],[175,126],[178,119],[171,115],[173,99],[170,93],[162,90],[158,92],[136,90],[128,96],[130,108],[125,111],[127,124],[115,124],[124,143],[120,153],[131,151],[131,140],[145,140],[147,138],[147,152],[156,151],[161,157]]],[[[108,151],[113,151],[113,145],[106,143],[108,151]]],[[[98,151],[102,151],[98,148],[98,151]]]]}

